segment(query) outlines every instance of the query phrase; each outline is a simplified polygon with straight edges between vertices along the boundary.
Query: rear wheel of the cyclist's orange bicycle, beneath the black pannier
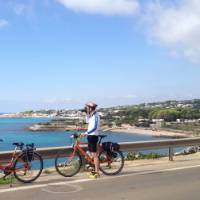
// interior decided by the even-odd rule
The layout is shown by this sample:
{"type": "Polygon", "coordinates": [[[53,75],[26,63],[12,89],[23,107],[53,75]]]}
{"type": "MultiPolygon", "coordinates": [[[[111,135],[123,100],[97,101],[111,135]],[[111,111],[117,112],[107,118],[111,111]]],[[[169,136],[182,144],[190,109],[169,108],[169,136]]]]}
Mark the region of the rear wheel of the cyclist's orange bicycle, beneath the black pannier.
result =
{"type": "Polygon", "coordinates": [[[121,151],[113,151],[108,155],[106,151],[99,154],[100,170],[108,176],[120,173],[124,167],[124,156],[121,151]]]}

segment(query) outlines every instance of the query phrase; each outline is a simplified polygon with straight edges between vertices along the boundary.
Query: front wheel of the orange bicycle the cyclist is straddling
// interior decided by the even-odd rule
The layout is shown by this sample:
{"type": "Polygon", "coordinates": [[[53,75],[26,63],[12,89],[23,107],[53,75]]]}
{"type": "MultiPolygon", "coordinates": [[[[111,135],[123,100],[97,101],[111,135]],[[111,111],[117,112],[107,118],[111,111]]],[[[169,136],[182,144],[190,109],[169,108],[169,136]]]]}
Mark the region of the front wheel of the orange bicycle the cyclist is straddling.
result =
{"type": "Polygon", "coordinates": [[[81,168],[82,159],[78,152],[67,153],[61,151],[55,159],[56,171],[64,177],[72,177],[76,175],[81,168]]]}

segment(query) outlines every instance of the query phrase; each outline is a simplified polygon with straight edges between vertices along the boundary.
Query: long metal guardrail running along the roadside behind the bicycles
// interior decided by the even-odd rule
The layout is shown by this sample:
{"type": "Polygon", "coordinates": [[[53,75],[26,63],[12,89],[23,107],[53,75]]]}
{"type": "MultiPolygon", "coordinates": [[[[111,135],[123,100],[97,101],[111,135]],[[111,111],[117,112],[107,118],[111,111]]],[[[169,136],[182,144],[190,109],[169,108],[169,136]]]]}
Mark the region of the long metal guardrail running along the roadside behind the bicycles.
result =
{"type": "MultiPolygon", "coordinates": [[[[184,138],[184,139],[169,139],[169,140],[154,140],[154,141],[142,141],[142,142],[123,142],[119,143],[122,151],[142,151],[150,149],[169,149],[169,160],[173,160],[173,148],[186,147],[186,146],[200,146],[200,137],[184,138]]],[[[84,146],[86,148],[86,146],[84,146]]],[[[43,157],[43,159],[55,158],[56,154],[65,150],[70,152],[71,146],[66,147],[51,147],[51,148],[37,148],[37,152],[43,157]]],[[[12,156],[13,151],[0,152],[0,162],[8,161],[12,156]]]]}

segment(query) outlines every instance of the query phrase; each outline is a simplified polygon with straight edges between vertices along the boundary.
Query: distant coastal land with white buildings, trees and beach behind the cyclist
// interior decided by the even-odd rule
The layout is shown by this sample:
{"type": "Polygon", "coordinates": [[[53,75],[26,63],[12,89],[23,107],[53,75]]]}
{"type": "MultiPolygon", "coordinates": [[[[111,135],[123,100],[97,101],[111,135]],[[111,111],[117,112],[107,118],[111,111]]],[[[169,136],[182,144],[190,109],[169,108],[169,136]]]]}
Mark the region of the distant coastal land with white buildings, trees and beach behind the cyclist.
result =
{"type": "MultiPolygon", "coordinates": [[[[101,129],[156,136],[191,137],[200,134],[200,100],[165,101],[139,105],[99,108],[101,129]]],[[[0,118],[49,118],[34,124],[30,131],[85,130],[85,114],[80,110],[40,110],[1,114],[0,118]]]]}

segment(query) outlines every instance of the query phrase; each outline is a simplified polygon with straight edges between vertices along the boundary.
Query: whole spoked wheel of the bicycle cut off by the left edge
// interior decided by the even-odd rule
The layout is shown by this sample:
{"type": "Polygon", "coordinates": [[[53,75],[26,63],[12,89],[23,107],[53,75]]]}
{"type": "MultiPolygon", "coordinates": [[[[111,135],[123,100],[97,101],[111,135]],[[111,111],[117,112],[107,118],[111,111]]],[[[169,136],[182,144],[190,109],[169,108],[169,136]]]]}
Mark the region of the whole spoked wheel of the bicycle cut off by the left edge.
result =
{"type": "Polygon", "coordinates": [[[33,152],[31,158],[27,158],[26,153],[19,155],[14,162],[14,176],[23,183],[31,183],[35,181],[43,170],[42,157],[33,152]]]}

